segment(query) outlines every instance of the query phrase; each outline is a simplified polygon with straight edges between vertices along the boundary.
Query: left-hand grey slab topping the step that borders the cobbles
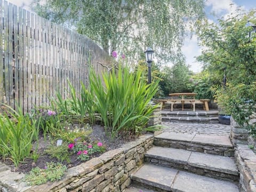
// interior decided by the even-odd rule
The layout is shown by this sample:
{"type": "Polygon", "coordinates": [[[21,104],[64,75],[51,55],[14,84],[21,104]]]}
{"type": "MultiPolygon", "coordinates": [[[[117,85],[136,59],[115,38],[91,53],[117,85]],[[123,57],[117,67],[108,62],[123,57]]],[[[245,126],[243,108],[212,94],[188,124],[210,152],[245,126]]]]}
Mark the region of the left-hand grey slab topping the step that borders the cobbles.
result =
{"type": "Polygon", "coordinates": [[[175,140],[175,141],[188,141],[191,142],[195,137],[195,134],[180,134],[174,132],[163,132],[157,135],[156,139],[167,139],[167,140],[175,140]]]}

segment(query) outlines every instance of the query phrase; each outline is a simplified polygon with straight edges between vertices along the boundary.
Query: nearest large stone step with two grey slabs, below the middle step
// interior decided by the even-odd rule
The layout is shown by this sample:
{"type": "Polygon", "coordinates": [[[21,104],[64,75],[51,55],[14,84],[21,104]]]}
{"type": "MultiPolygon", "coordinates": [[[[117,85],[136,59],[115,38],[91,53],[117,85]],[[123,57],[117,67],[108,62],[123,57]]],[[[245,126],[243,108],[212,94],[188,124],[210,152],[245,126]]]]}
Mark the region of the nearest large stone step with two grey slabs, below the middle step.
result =
{"type": "Polygon", "coordinates": [[[169,167],[145,164],[132,175],[132,182],[155,191],[238,192],[235,183],[187,173],[169,167]]]}

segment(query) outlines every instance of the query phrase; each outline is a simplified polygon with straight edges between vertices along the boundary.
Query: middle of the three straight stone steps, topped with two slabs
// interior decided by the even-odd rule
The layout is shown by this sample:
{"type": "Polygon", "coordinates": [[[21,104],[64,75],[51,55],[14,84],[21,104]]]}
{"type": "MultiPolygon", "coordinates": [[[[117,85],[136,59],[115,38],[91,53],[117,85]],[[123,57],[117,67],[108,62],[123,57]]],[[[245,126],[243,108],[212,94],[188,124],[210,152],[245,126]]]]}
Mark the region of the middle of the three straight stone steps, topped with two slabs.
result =
{"type": "Polygon", "coordinates": [[[145,161],[212,178],[239,180],[235,161],[230,157],[155,146],[147,151],[145,161]]]}

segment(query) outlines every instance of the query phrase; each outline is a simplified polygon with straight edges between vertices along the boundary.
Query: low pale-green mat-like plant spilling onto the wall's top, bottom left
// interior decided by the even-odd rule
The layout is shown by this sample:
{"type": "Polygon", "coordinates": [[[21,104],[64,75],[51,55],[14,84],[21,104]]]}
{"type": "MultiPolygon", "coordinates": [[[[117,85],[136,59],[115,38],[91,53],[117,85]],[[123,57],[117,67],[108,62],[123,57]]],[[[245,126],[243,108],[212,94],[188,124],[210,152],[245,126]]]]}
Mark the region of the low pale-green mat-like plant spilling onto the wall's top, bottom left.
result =
{"type": "Polygon", "coordinates": [[[60,180],[66,170],[67,167],[60,163],[46,163],[44,169],[40,169],[39,167],[33,168],[29,174],[26,174],[24,180],[29,185],[41,185],[47,181],[60,180]]]}

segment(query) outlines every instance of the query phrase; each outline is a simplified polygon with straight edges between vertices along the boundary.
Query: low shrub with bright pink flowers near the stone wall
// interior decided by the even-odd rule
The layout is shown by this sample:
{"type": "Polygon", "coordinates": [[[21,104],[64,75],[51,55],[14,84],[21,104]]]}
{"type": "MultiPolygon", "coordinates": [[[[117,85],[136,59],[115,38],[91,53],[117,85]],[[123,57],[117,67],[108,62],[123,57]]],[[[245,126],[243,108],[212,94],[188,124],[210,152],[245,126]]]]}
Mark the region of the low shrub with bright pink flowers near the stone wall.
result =
{"type": "Polygon", "coordinates": [[[74,143],[69,143],[68,148],[73,151],[73,153],[76,153],[77,159],[81,161],[88,160],[91,154],[102,153],[105,151],[105,147],[103,147],[102,142],[91,145],[80,138],[76,138],[74,143]]]}

